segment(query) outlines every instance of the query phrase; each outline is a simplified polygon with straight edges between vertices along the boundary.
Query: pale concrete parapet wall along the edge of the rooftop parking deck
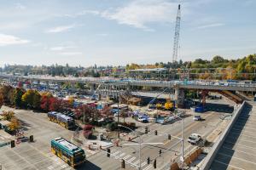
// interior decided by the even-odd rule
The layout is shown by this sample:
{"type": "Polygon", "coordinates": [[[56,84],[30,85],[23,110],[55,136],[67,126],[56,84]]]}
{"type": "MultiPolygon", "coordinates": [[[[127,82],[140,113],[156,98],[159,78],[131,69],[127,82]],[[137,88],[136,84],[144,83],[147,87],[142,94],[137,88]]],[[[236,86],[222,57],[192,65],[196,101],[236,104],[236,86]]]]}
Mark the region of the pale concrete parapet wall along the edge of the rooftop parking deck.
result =
{"type": "Polygon", "coordinates": [[[214,160],[215,156],[218,154],[218,150],[221,148],[222,144],[224,143],[224,140],[226,139],[226,137],[228,136],[228,134],[230,133],[231,128],[233,127],[233,125],[235,124],[238,116],[240,116],[241,111],[245,105],[245,101],[239,106],[239,108],[237,108],[237,110],[235,110],[234,115],[232,116],[232,119],[230,120],[230,123],[228,124],[228,126],[225,128],[224,132],[219,136],[218,140],[215,142],[215,144],[212,146],[212,149],[210,150],[210,152],[208,153],[207,157],[204,159],[200,169],[201,170],[208,170],[211,165],[212,165],[212,161],[214,160]]]}

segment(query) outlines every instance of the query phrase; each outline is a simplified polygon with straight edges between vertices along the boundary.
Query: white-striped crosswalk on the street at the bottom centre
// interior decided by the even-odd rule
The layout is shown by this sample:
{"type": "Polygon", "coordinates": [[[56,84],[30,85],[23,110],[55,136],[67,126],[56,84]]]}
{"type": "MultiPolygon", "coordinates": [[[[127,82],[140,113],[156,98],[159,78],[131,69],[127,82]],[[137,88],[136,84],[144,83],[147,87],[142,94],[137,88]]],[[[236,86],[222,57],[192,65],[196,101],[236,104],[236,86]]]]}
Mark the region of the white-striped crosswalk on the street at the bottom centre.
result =
{"type": "MultiPolygon", "coordinates": [[[[131,156],[130,154],[127,154],[117,149],[111,150],[111,157],[119,160],[124,159],[125,163],[131,165],[131,167],[138,167],[140,163],[139,159],[136,156],[131,156]]],[[[142,170],[154,169],[152,164],[148,165],[146,161],[141,162],[141,167],[142,170]]]]}

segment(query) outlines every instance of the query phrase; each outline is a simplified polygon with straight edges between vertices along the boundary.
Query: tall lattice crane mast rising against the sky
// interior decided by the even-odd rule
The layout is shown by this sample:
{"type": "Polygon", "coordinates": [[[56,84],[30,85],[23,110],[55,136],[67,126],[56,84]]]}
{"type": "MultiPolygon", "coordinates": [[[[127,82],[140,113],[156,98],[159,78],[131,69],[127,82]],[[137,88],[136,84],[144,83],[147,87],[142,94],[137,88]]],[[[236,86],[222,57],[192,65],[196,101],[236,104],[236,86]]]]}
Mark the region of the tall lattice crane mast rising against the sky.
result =
{"type": "Polygon", "coordinates": [[[180,12],[180,4],[178,4],[174,42],[173,42],[172,63],[177,62],[177,49],[179,47],[180,20],[181,20],[181,12],[180,12]]]}

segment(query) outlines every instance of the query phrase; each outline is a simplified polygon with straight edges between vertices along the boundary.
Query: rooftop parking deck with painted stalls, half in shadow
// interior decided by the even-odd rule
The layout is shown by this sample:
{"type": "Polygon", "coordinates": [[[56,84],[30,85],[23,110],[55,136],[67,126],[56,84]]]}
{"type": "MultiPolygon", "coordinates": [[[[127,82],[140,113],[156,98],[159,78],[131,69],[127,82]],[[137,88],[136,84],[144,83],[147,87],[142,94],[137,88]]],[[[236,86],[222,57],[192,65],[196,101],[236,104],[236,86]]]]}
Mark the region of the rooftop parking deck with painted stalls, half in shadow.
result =
{"type": "Polygon", "coordinates": [[[255,169],[256,166],[256,107],[246,104],[211,169],[255,169]]]}

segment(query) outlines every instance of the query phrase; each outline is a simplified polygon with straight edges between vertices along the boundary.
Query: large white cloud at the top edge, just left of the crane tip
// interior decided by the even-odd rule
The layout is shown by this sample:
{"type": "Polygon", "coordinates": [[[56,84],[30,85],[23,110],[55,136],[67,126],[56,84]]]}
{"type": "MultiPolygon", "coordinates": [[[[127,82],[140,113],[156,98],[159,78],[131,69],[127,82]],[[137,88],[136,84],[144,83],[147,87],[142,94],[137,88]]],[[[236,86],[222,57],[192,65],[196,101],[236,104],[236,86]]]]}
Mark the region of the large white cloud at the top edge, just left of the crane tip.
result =
{"type": "Polygon", "coordinates": [[[177,13],[177,3],[165,0],[133,1],[115,11],[104,11],[102,17],[116,20],[119,24],[134,26],[145,31],[153,31],[148,24],[172,22],[177,13]]]}

